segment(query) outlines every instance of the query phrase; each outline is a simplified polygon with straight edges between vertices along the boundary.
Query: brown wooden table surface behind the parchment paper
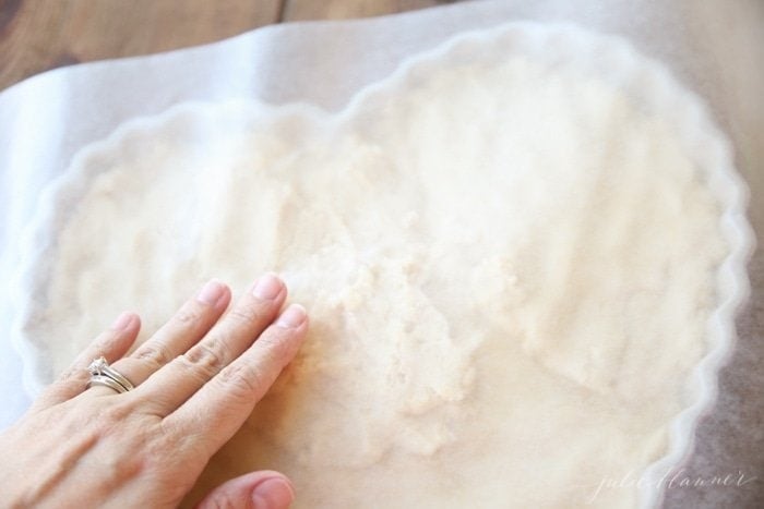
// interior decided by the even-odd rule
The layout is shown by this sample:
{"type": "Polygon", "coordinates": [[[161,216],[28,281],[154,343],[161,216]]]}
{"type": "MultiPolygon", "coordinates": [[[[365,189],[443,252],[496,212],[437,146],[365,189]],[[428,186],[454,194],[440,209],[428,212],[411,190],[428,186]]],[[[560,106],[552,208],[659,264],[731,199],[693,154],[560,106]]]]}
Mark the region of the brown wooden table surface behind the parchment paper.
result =
{"type": "Polygon", "coordinates": [[[0,0],[0,90],[49,69],[202,45],[273,23],[444,0],[0,0]]]}

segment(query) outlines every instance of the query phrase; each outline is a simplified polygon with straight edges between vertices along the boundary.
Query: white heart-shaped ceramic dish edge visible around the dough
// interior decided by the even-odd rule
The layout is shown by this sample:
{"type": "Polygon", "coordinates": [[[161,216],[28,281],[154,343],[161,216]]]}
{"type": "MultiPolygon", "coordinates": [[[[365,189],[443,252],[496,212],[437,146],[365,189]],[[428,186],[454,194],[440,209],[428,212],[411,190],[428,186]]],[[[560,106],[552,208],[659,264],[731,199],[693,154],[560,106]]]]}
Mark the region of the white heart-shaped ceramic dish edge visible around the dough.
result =
{"type": "MultiPolygon", "coordinates": [[[[714,404],[718,369],[733,346],[735,315],[749,291],[745,264],[753,240],[744,215],[747,189],[733,168],[729,143],[714,125],[699,97],[679,85],[659,63],[636,53],[621,39],[595,36],[571,26],[512,23],[496,29],[461,35],[433,51],[413,57],[394,75],[360,92],[336,116],[329,116],[308,105],[272,108],[252,102],[240,108],[246,112],[243,117],[259,119],[258,122],[262,123],[285,117],[301,117],[308,119],[307,123],[334,129],[351,117],[359,105],[381,100],[398,87],[415,82],[418,75],[433,66],[469,61],[476,53],[485,57],[490,50],[493,51],[491,58],[502,58],[502,51],[508,48],[547,59],[551,52],[561,62],[573,62],[619,87],[646,111],[668,119],[675,132],[680,133],[685,153],[693,156],[702,178],[719,203],[724,204],[719,220],[729,243],[729,255],[717,271],[718,306],[708,324],[712,339],[707,353],[694,368],[692,379],[688,380],[696,389],[694,399],[670,423],[669,450],[642,475],[641,505],[653,507],[660,500],[666,487],[662,482],[666,472],[690,453],[697,421],[714,404]]],[[[181,105],[157,118],[129,122],[109,138],[83,148],[69,171],[45,192],[39,214],[24,241],[25,266],[13,283],[14,300],[19,303],[13,341],[24,360],[24,384],[32,393],[37,393],[53,375],[48,343],[44,338],[31,335],[29,326],[35,319],[35,311],[45,305],[49,262],[56,256],[56,233],[65,225],[68,211],[73,209],[79,197],[108,166],[100,162],[126,154],[132,140],[151,136],[160,130],[172,130],[174,125],[198,121],[200,125],[214,126],[218,109],[223,111],[226,108],[230,111],[231,106],[181,105]]],[[[228,125],[226,129],[231,128],[228,125]]],[[[204,135],[204,132],[200,132],[200,136],[204,135]]]]}

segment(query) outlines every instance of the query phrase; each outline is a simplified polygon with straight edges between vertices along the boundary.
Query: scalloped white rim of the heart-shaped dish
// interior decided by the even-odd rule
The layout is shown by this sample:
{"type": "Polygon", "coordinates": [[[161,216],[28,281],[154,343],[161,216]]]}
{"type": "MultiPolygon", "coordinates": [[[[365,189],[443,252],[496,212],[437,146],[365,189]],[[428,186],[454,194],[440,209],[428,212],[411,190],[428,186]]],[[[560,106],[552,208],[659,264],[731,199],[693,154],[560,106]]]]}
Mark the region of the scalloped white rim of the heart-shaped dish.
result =
{"type": "MultiPolygon", "coordinates": [[[[216,108],[226,104],[248,108],[250,113],[262,116],[263,122],[299,114],[315,120],[313,125],[329,125],[334,129],[336,124],[351,118],[360,105],[379,100],[386,94],[405,87],[409,81],[416,80],[418,73],[427,72],[434,65],[447,62],[449,59],[461,61],[465,56],[468,57],[470,48],[496,45],[510,39],[530,52],[548,49],[549,45],[552,45],[560,50],[559,54],[574,59],[582,56],[590,58],[592,53],[587,53],[587,50],[596,49],[597,58],[585,63],[609,73],[597,77],[614,80],[617,85],[625,85],[628,94],[635,95],[643,102],[646,100],[653,109],[669,108],[671,114],[665,118],[677,129],[684,148],[687,149],[689,144],[700,149],[701,155],[705,155],[694,162],[701,168],[708,187],[724,206],[720,228],[730,251],[716,274],[718,306],[712,313],[708,323],[708,351],[694,366],[688,380],[696,388],[694,400],[671,420],[667,453],[650,463],[640,477],[643,481],[640,483],[640,506],[657,506],[664,497],[666,474],[679,466],[692,452],[697,422],[716,402],[718,372],[730,356],[737,337],[735,319],[750,294],[747,264],[755,241],[745,216],[749,191],[735,169],[729,141],[715,125],[705,104],[697,95],[675,80],[662,64],[641,54],[620,36],[596,34],[571,24],[510,22],[489,29],[457,34],[434,49],[409,57],[393,74],[356,93],[348,105],[336,113],[326,112],[309,104],[268,106],[256,100],[183,102],[159,116],[126,122],[107,138],[80,149],[68,170],[43,192],[37,214],[27,226],[20,244],[23,262],[10,288],[16,303],[16,319],[11,339],[23,360],[25,389],[31,395],[36,395],[46,385],[38,376],[46,371],[45,366],[40,365],[40,349],[23,334],[24,324],[34,305],[34,295],[45,288],[46,274],[37,270],[35,260],[45,259],[44,257],[55,250],[55,239],[50,232],[65,222],[64,215],[59,211],[67,209],[67,197],[80,194],[97,172],[97,169],[86,165],[89,157],[114,150],[130,135],[159,129],[178,116],[212,114],[216,108]],[[68,193],[63,193],[64,190],[68,193]]],[[[697,159],[696,153],[689,154],[697,159]]]]}

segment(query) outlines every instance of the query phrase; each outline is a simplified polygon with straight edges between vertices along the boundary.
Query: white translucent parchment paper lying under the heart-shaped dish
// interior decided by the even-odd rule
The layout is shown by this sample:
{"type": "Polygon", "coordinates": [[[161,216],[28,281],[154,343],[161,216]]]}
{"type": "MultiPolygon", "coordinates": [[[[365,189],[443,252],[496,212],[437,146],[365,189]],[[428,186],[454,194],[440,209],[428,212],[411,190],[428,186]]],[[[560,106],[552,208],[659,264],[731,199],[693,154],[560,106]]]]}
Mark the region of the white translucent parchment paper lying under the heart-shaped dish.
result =
{"type": "MultiPolygon", "coordinates": [[[[187,100],[256,97],[342,108],[365,85],[414,52],[452,35],[511,20],[569,21],[619,34],[668,64],[706,98],[736,146],[752,192],[751,222],[764,232],[764,2],[759,0],[473,1],[351,22],[274,25],[222,43],[151,57],[50,71],[0,93],[0,278],[40,190],[84,145],[136,116],[187,100]]],[[[667,490],[665,507],[764,507],[764,256],[751,263],[752,299],[740,340],[720,376],[716,408],[701,424],[696,451],[667,490]],[[743,483],[679,486],[682,478],[743,476],[743,483]]],[[[29,403],[22,362],[7,331],[11,295],[0,289],[0,428],[29,403]]],[[[629,480],[623,480],[628,483],[629,480]]],[[[694,484],[697,484],[696,482],[694,484]]],[[[708,484],[708,483],[706,483],[708,484]]]]}

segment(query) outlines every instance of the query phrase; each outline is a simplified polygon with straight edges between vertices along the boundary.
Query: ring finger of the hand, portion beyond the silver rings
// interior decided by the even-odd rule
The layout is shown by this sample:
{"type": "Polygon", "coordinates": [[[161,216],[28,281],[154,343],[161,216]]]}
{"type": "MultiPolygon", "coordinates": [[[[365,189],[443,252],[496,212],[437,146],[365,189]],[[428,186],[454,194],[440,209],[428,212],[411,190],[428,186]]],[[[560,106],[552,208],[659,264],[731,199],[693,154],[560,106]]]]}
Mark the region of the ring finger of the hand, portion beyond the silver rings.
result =
{"type": "Polygon", "coordinates": [[[208,281],[154,336],[111,367],[138,387],[154,372],[198,343],[229,303],[228,287],[215,279],[208,281]]]}

